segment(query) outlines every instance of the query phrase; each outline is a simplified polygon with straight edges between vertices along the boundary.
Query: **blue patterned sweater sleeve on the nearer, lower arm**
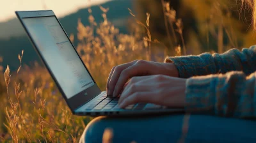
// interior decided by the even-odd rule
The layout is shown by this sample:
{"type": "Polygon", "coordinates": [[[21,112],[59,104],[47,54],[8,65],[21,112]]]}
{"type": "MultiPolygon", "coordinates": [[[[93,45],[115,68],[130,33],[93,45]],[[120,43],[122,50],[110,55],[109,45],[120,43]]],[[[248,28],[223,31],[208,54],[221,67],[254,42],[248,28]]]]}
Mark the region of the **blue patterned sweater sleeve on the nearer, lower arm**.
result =
{"type": "Polygon", "coordinates": [[[256,72],[191,77],[186,82],[186,111],[225,117],[256,117],[256,72]]]}

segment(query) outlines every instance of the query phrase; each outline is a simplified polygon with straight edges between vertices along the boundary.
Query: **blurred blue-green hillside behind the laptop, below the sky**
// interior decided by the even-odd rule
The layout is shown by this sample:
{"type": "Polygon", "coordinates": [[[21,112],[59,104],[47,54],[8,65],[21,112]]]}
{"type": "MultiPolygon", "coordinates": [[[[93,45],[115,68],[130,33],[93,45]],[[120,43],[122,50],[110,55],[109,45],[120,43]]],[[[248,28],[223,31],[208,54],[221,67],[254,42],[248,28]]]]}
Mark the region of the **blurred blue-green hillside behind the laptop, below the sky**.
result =
{"type": "MultiPolygon", "coordinates": [[[[127,33],[127,18],[130,17],[127,8],[132,9],[132,0],[109,1],[108,3],[101,4],[101,6],[109,8],[107,13],[108,20],[113,22],[120,29],[121,33],[127,33]]],[[[102,22],[102,11],[99,6],[92,6],[91,8],[95,22],[102,22]]],[[[84,25],[89,25],[88,17],[88,8],[83,8],[59,20],[67,34],[74,34],[76,40],[77,20],[81,19],[84,25]]],[[[31,64],[33,61],[39,61],[39,57],[18,19],[0,23],[0,31],[0,56],[3,57],[2,65],[4,67],[6,64],[9,64],[11,70],[16,69],[19,65],[17,55],[21,50],[24,50],[23,63],[31,64]]],[[[76,46],[76,44],[77,42],[75,41],[74,45],[76,46]]]]}

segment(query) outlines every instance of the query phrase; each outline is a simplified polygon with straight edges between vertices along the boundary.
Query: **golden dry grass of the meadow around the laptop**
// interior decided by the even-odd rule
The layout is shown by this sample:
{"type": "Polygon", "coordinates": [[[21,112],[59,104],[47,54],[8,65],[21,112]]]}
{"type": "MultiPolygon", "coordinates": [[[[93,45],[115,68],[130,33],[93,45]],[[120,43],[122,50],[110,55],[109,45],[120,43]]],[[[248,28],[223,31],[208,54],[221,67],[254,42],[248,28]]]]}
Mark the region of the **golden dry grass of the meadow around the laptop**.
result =
{"type": "MultiPolygon", "coordinates": [[[[100,89],[104,90],[106,87],[108,74],[113,66],[134,59],[163,61],[164,57],[168,56],[168,49],[163,43],[151,38],[149,13],[144,24],[136,19],[136,15],[130,10],[137,25],[134,26],[133,33],[122,34],[108,21],[106,17],[108,9],[102,7],[100,9],[103,22],[97,24],[93,15],[90,15],[88,17],[90,25],[84,26],[81,20],[78,20],[77,24],[79,40],[77,51],[100,89]],[[143,31],[141,27],[144,28],[143,31]],[[143,32],[146,34],[144,35],[143,32]],[[152,52],[152,43],[164,47],[161,56],[152,52]]],[[[168,37],[173,39],[170,42],[174,41],[172,45],[175,47],[173,49],[175,55],[186,55],[182,20],[176,18],[175,10],[170,8],[169,3],[163,3],[163,11],[166,29],[171,27],[168,37]],[[177,43],[176,34],[180,36],[182,43],[177,43]]],[[[89,9],[89,12],[92,13],[92,10],[89,9]]],[[[215,34],[221,40],[221,31],[215,34]]],[[[73,34],[70,35],[70,40],[74,40],[73,34]]],[[[232,43],[235,45],[235,42],[232,43]]],[[[219,51],[223,51],[221,41],[218,45],[220,45],[219,51]]],[[[17,72],[11,72],[7,66],[4,77],[0,77],[2,88],[5,86],[0,105],[0,121],[3,123],[0,125],[0,142],[77,142],[92,118],[73,116],[47,70],[37,63],[33,68],[22,67],[22,56],[23,51],[18,56],[20,66],[17,72]]],[[[184,118],[184,124],[188,124],[188,120],[189,115],[184,118]]],[[[185,135],[182,137],[186,137],[188,126],[183,128],[185,135]]],[[[106,134],[113,136],[109,130],[106,134]]],[[[109,137],[104,136],[106,142],[111,140],[109,137]]]]}

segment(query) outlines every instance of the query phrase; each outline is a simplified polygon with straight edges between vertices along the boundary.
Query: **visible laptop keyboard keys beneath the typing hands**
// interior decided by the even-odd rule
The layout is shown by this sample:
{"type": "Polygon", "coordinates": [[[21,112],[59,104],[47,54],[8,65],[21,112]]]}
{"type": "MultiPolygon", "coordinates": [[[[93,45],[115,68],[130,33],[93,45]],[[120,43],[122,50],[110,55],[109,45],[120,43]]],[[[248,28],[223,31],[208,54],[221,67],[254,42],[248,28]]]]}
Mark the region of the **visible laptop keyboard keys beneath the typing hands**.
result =
{"type": "MultiPolygon", "coordinates": [[[[110,97],[107,94],[104,94],[94,103],[92,103],[86,110],[111,110],[111,109],[120,109],[117,105],[118,97],[110,97]],[[115,108],[114,108],[115,107],[115,108]]],[[[141,110],[145,107],[147,103],[136,103],[133,105],[128,105],[125,109],[128,110],[141,110]]]]}

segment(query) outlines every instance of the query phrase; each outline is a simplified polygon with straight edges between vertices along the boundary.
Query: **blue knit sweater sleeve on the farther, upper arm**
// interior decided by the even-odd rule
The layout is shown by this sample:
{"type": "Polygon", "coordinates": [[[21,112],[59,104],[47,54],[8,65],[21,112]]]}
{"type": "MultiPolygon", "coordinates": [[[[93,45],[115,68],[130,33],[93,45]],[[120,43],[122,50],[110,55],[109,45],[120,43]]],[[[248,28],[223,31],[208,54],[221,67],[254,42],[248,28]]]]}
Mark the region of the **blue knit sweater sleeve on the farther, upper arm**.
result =
{"type": "Polygon", "coordinates": [[[189,78],[195,75],[209,75],[242,71],[250,75],[256,71],[256,46],[239,51],[231,49],[223,54],[204,53],[198,56],[167,57],[166,63],[174,63],[179,77],[189,78]]]}

